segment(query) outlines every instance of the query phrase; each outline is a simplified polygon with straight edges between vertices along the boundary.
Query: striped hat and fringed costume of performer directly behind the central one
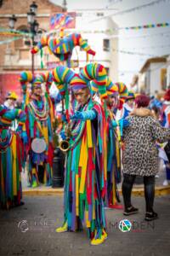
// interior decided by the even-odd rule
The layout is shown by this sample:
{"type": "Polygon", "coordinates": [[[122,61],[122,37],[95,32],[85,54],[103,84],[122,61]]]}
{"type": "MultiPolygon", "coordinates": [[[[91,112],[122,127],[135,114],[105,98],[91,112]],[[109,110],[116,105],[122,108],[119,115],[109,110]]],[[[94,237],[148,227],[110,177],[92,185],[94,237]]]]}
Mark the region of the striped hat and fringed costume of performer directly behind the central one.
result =
{"type": "MultiPolygon", "coordinates": [[[[98,93],[98,86],[91,82],[93,93],[98,93]]],[[[106,92],[108,96],[118,96],[119,87],[117,84],[113,84],[111,79],[107,79],[106,92]]],[[[108,101],[108,100],[107,100],[108,101]]],[[[113,127],[112,121],[116,120],[113,113],[113,107],[106,101],[106,144],[107,144],[107,200],[108,207],[122,208],[118,205],[120,202],[119,192],[117,189],[117,183],[121,182],[121,146],[120,146],[120,129],[119,127],[113,127]]]]}

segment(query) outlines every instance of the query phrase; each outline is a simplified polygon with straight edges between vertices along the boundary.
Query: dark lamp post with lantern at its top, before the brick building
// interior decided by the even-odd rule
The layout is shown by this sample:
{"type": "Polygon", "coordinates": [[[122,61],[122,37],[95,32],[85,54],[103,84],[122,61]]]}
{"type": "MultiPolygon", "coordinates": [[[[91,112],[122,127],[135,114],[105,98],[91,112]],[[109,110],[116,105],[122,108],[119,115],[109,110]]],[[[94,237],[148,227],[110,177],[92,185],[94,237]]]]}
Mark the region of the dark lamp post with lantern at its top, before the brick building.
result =
{"type": "MultiPolygon", "coordinates": [[[[37,20],[35,20],[36,13],[37,13],[37,4],[33,2],[30,5],[30,11],[27,13],[28,24],[30,24],[32,47],[36,44],[34,39],[35,39],[35,36],[37,35],[37,31],[39,27],[37,20]]],[[[34,73],[34,55],[31,55],[31,72],[34,73]]]]}

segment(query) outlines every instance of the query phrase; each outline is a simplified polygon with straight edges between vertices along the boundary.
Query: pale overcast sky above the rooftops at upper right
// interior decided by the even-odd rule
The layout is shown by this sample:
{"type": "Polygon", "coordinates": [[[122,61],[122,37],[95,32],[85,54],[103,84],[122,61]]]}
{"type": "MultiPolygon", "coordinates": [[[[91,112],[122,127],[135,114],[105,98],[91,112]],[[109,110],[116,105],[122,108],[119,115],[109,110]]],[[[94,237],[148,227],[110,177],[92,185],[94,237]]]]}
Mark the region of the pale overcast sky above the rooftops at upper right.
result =
{"type": "MultiPolygon", "coordinates": [[[[51,2],[61,5],[63,0],[51,0],[51,2]]],[[[68,11],[111,9],[111,18],[119,27],[170,23],[170,0],[66,0],[66,2],[68,11]],[[149,3],[150,6],[144,6],[149,3]]],[[[133,75],[139,72],[148,58],[170,54],[170,26],[138,31],[120,30],[119,50],[119,80],[129,84],[133,75]],[[122,50],[133,54],[121,53],[122,50]]]]}

